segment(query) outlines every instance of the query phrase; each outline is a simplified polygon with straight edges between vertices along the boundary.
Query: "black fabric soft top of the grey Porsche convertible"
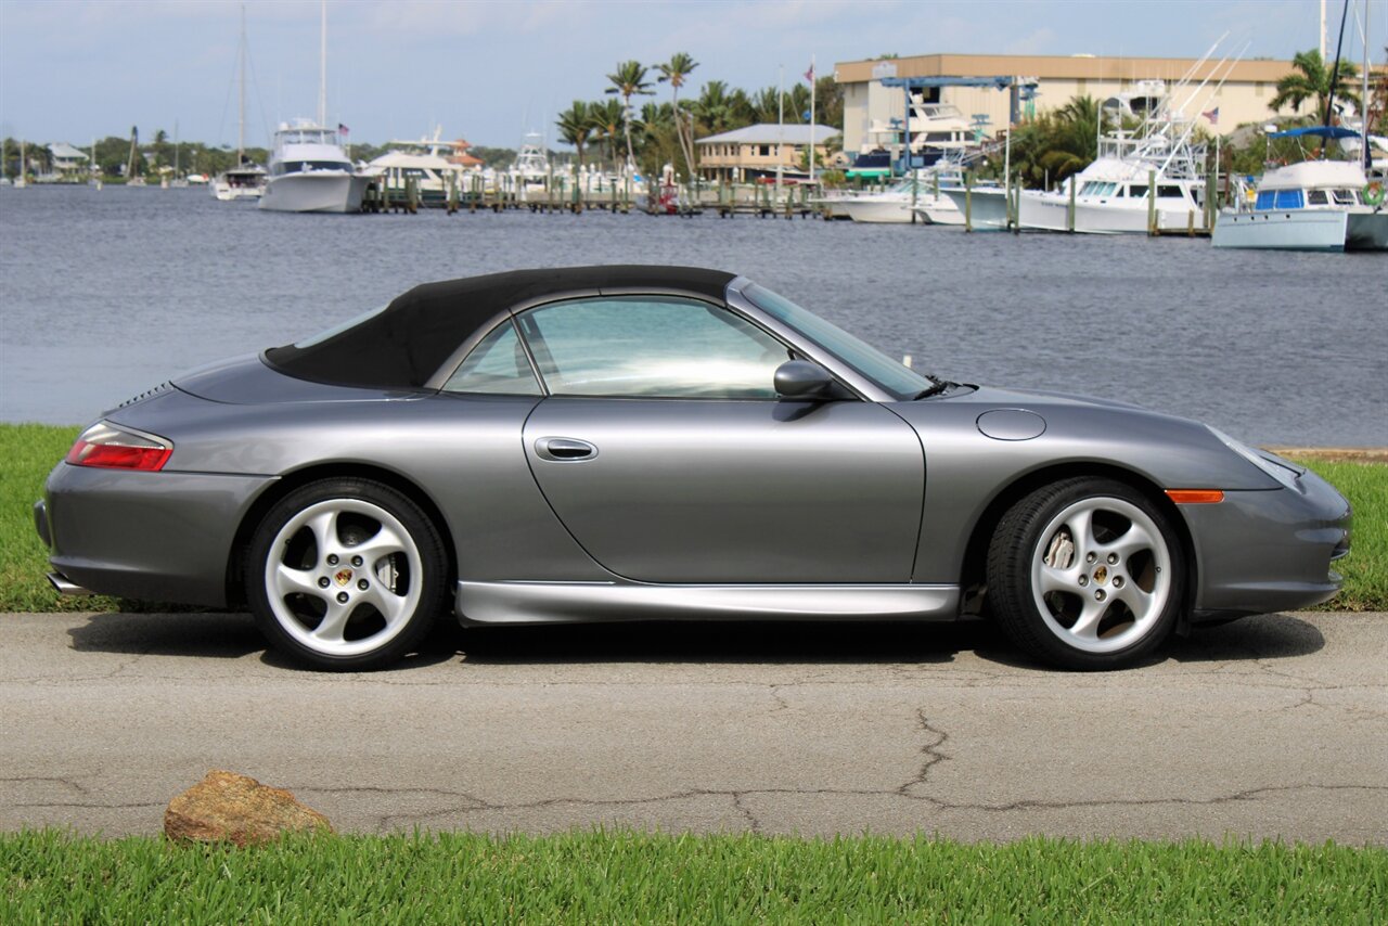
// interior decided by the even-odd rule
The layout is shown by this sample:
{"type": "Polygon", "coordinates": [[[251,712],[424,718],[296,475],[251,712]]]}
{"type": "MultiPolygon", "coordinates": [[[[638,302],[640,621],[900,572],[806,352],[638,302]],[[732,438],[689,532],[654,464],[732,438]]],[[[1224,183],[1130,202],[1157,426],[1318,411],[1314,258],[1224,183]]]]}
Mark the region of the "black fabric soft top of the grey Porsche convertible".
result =
{"type": "Polygon", "coordinates": [[[555,267],[423,283],[383,311],[305,347],[265,351],[280,372],[340,386],[421,389],[479,326],[520,303],[579,292],[688,293],[722,300],[734,273],[698,267],[555,267]]]}

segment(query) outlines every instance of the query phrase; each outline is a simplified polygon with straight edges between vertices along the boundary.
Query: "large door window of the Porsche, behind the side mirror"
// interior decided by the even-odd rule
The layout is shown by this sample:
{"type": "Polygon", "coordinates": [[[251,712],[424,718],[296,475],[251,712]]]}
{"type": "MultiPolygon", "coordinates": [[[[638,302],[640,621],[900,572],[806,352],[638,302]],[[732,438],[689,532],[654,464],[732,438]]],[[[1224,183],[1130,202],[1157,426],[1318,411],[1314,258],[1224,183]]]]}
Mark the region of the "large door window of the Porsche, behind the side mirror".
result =
{"type": "Polygon", "coordinates": [[[518,321],[554,396],[773,400],[790,360],[761,328],[691,298],[576,298],[518,321]]]}

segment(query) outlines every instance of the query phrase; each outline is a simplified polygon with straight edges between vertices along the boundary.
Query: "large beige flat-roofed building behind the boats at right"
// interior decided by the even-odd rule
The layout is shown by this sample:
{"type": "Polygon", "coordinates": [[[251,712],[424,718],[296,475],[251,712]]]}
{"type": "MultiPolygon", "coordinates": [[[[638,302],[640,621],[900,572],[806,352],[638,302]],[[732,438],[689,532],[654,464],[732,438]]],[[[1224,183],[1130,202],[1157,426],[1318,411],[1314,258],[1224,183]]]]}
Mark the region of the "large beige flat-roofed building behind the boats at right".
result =
{"type": "MultiPolygon", "coordinates": [[[[1167,87],[1187,74],[1194,81],[1174,100],[1185,104],[1187,117],[1212,112],[1202,125],[1212,133],[1228,135],[1241,124],[1269,122],[1277,115],[1294,115],[1288,107],[1274,112],[1267,107],[1277,94],[1277,82],[1292,72],[1291,61],[1245,60],[1220,62],[1219,57],[1201,64],[1196,58],[1110,58],[1097,56],[1037,54],[917,54],[872,61],[843,61],[834,65],[834,79],[844,90],[844,150],[856,153],[870,147],[873,122],[901,119],[905,94],[887,87],[881,76],[897,78],[1035,78],[1037,97],[1030,104],[1053,110],[1073,97],[1091,96],[1101,101],[1135,92],[1144,81],[1165,81],[1167,87]],[[1199,65],[1199,67],[1196,67],[1199,65]],[[1194,69],[1194,71],[1192,71],[1194,69]],[[1226,76],[1227,75],[1227,76],[1226,76]],[[1209,78],[1205,89],[1187,103],[1185,97],[1209,78]],[[1224,78],[1220,85],[1220,78],[1224,78]]],[[[992,87],[942,86],[926,90],[923,103],[947,103],[980,125],[997,131],[1009,125],[1009,117],[1024,118],[1027,103],[1019,94],[992,87]],[[1016,107],[1017,111],[1012,111],[1016,107]]],[[[1302,115],[1313,107],[1302,104],[1302,115]]]]}

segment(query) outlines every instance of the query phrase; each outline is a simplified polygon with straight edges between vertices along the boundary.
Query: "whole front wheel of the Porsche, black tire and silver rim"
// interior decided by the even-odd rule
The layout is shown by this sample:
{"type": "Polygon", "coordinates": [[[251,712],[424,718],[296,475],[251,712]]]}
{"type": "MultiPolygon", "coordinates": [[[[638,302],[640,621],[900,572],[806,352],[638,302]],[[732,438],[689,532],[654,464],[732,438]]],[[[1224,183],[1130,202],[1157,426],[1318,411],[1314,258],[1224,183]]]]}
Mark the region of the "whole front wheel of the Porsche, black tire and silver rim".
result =
{"type": "Polygon", "coordinates": [[[1029,655],[1063,669],[1133,665],[1156,650],[1185,601],[1170,518],[1113,479],[1037,489],[988,546],[988,609],[1029,655]]]}

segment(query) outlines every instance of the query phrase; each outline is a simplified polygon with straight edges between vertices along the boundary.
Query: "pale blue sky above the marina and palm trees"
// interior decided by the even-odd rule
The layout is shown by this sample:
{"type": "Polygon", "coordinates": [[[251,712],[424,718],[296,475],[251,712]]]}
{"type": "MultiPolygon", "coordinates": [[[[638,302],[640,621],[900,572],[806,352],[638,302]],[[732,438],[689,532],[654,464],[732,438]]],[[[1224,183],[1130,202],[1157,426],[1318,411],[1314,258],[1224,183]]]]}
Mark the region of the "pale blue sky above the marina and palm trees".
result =
{"type": "MultiPolygon", "coordinates": [[[[1370,54],[1388,44],[1388,0],[1370,10],[1370,54]]],[[[86,146],[93,137],[236,143],[236,0],[0,0],[0,135],[86,146]]],[[[247,144],[315,115],[318,0],[247,0],[247,144]]],[[[1341,3],[1330,0],[1331,47],[1341,3]]],[[[1199,57],[1226,32],[1245,57],[1316,47],[1319,0],[329,0],[328,114],[379,144],[443,137],[554,142],[555,114],[604,94],[619,61],[698,61],[706,81],[755,90],[816,62],[880,54],[1199,57]]],[[[1346,50],[1362,57],[1357,32],[1346,50]]],[[[654,82],[654,74],[652,74],[654,82]]],[[[668,85],[657,85],[668,100],[668,85]]]]}

